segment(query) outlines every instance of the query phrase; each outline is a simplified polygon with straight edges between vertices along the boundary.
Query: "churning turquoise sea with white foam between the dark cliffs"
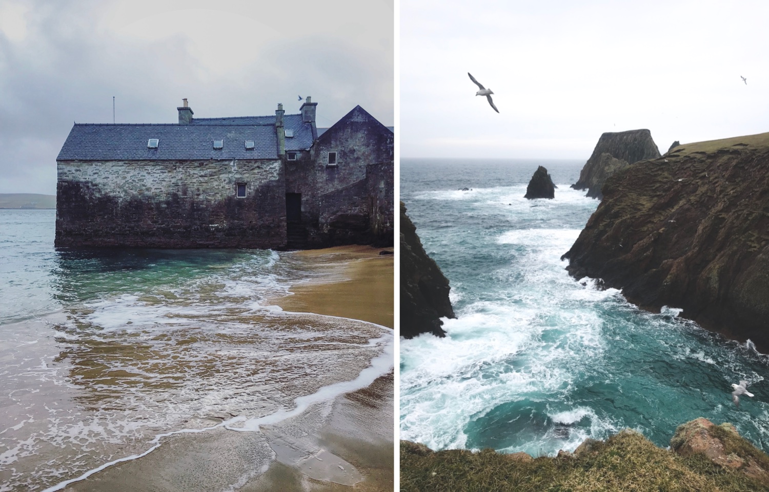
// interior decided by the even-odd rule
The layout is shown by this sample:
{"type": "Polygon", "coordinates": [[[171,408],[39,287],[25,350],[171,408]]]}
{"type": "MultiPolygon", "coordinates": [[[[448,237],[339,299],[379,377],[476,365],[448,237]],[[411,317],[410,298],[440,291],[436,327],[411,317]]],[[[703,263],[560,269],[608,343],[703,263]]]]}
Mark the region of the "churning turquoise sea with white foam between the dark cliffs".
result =
{"type": "Polygon", "coordinates": [[[401,439],[554,455],[623,428],[667,446],[679,424],[728,421],[769,451],[769,358],[615,289],[560,257],[598,206],[584,161],[401,160],[401,200],[451,282],[446,338],[401,339],[401,439]],[[544,165],[554,200],[525,200],[544,165]],[[458,189],[468,187],[471,191],[458,189]],[[731,401],[744,379],[754,398],[731,401]]]}

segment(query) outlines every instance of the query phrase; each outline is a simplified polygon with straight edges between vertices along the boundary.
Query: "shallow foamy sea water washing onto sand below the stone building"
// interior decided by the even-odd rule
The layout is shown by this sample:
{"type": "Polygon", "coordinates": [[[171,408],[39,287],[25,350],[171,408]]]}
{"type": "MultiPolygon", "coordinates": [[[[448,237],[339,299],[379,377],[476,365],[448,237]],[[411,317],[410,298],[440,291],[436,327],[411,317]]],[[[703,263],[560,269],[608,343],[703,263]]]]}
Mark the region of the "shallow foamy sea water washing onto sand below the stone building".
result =
{"type": "MultiPolygon", "coordinates": [[[[162,453],[162,434],[258,432],[391,368],[390,329],[271,304],[324,274],[291,253],[57,251],[54,223],[0,210],[2,492],[162,453]]],[[[251,475],[275,455],[266,438],[257,448],[251,475]]]]}

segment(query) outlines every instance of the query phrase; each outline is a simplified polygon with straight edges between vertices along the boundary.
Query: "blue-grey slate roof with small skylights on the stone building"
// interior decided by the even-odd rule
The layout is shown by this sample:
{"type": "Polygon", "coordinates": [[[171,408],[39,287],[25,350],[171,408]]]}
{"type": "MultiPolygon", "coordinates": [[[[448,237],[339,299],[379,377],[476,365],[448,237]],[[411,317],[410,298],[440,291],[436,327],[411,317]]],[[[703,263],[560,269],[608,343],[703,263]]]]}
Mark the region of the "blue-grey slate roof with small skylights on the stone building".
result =
{"type": "MultiPolygon", "coordinates": [[[[285,139],[286,150],[311,147],[311,124],[301,114],[284,114],[283,125],[294,130],[285,139]]],[[[191,124],[75,124],[56,160],[180,160],[277,159],[275,115],[193,118],[191,124]],[[157,138],[158,148],[147,142],[157,138]],[[214,140],[224,140],[221,150],[214,140]],[[255,148],[245,149],[245,140],[255,148]]]]}

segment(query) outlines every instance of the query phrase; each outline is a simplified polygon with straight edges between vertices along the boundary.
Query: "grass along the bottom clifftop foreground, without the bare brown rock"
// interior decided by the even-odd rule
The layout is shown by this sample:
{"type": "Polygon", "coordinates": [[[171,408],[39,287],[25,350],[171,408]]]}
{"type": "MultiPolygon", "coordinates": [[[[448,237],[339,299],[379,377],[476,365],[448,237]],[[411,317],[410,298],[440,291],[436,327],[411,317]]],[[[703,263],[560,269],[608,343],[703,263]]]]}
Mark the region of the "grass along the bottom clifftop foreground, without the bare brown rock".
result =
{"type": "Polygon", "coordinates": [[[623,431],[607,441],[588,441],[588,444],[575,455],[531,459],[491,450],[433,453],[402,441],[401,491],[769,490],[769,483],[713,464],[702,454],[683,457],[656,447],[634,431],[623,431]]]}

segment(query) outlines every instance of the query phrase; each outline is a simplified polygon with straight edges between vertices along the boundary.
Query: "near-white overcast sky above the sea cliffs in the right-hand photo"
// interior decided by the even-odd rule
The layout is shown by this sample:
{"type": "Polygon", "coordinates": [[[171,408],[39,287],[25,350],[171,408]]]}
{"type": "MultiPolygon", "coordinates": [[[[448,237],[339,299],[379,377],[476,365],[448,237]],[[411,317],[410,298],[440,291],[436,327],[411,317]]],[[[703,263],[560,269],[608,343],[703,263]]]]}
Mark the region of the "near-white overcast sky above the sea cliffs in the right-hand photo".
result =
{"type": "Polygon", "coordinates": [[[608,131],[648,128],[663,154],[769,131],[767,19],[764,0],[403,0],[401,157],[587,160],[608,131]]]}

